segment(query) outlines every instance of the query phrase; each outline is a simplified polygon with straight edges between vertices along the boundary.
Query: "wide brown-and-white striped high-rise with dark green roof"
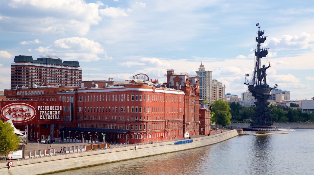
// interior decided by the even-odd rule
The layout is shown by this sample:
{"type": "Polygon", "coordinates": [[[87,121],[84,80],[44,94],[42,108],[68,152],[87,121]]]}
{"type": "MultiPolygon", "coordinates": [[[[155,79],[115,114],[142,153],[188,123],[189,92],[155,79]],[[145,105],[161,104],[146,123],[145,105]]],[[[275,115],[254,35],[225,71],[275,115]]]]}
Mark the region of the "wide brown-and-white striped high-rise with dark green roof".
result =
{"type": "Polygon", "coordinates": [[[15,56],[11,63],[11,89],[40,85],[80,87],[82,69],[78,61],[63,61],[56,56],[15,56]]]}

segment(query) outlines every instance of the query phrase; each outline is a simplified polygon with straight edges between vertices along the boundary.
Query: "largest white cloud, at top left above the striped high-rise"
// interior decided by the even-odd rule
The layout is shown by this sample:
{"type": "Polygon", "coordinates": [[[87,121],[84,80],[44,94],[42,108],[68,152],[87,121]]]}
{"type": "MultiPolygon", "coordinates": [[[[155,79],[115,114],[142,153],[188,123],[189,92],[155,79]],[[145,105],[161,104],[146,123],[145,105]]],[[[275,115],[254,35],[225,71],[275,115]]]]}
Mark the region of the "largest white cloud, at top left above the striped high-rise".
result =
{"type": "Polygon", "coordinates": [[[27,20],[24,20],[24,15],[8,20],[15,23],[19,31],[85,35],[90,25],[96,25],[102,20],[98,8],[103,5],[100,1],[86,3],[82,0],[15,0],[9,3],[9,8],[21,11],[27,9],[33,12],[33,16],[26,14],[27,20]]]}

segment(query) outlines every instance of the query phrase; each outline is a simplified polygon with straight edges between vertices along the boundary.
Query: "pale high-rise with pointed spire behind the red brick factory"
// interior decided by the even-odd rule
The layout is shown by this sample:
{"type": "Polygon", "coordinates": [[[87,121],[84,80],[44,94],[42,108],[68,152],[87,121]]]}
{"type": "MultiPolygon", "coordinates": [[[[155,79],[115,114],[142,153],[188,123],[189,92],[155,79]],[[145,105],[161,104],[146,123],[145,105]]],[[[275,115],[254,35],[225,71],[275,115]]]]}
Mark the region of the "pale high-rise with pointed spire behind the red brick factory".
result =
{"type": "Polygon", "coordinates": [[[225,101],[225,87],[222,82],[213,80],[212,71],[205,70],[203,61],[199,65],[196,75],[199,78],[200,85],[199,98],[207,100],[211,104],[217,99],[225,101]]]}

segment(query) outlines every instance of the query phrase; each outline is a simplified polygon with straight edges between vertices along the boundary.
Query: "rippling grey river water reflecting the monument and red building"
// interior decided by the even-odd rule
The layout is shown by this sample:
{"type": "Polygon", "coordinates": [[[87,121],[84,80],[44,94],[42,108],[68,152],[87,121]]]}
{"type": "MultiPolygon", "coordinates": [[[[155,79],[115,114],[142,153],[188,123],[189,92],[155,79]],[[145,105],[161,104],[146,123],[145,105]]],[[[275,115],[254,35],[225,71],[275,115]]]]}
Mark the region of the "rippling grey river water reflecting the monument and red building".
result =
{"type": "Polygon", "coordinates": [[[250,131],[210,146],[53,175],[313,174],[314,129],[284,132],[289,134],[255,136],[250,131]]]}

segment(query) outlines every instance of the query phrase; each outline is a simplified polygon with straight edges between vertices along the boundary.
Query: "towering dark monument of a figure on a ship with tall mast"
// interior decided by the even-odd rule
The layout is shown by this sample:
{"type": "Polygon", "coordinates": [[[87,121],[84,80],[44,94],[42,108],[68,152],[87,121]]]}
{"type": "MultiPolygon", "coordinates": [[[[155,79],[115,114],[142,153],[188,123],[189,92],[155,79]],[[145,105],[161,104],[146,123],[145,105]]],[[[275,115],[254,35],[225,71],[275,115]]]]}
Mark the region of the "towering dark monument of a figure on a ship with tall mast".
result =
{"type": "MultiPolygon", "coordinates": [[[[266,36],[263,37],[264,31],[260,31],[259,23],[258,32],[256,37],[257,49],[255,50],[255,67],[252,73],[250,81],[245,78],[245,83],[248,85],[249,91],[252,93],[252,96],[255,97],[256,108],[254,109],[255,121],[251,124],[251,127],[271,127],[273,122],[269,120],[270,114],[268,114],[268,97],[272,89],[278,87],[275,84],[275,87],[269,87],[266,81],[266,69],[270,67],[270,62],[268,62],[268,67],[265,67],[265,64],[261,67],[261,59],[266,57],[268,54],[268,48],[261,49],[261,44],[266,40],[266,36]],[[263,82],[262,82],[263,80],[263,82]]],[[[267,62],[267,61],[266,61],[267,62]]],[[[246,74],[245,77],[249,75],[246,74]]]]}

